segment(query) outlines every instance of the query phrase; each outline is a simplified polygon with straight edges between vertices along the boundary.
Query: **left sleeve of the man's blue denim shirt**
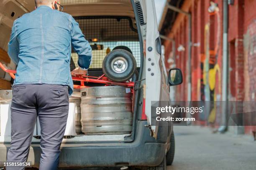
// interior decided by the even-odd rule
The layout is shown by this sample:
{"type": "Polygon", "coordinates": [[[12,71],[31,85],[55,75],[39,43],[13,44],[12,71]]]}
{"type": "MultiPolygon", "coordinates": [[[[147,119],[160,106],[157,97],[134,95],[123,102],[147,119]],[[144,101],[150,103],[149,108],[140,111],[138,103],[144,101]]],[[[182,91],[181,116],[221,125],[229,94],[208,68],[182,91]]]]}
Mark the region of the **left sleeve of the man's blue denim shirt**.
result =
{"type": "Polygon", "coordinates": [[[17,31],[15,28],[15,21],[14,21],[12,33],[10,36],[10,42],[8,43],[8,55],[16,65],[18,65],[19,63],[19,52],[20,52],[20,46],[17,39],[17,31]]]}

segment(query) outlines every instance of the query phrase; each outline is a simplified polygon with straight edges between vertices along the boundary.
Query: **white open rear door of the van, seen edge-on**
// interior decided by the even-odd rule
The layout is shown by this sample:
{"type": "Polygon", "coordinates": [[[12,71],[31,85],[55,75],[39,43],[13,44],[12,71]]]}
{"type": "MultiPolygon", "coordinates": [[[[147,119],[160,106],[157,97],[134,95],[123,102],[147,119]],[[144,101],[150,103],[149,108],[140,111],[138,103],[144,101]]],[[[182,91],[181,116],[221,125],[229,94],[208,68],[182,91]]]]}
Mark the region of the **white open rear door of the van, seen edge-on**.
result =
{"type": "MultiPolygon", "coordinates": [[[[146,103],[145,114],[151,126],[153,137],[156,138],[159,122],[152,124],[151,101],[161,100],[161,44],[156,19],[154,0],[143,0],[146,5],[146,103]],[[159,46],[160,45],[160,46],[159,46]]],[[[155,122],[155,121],[154,121],[155,122]]]]}

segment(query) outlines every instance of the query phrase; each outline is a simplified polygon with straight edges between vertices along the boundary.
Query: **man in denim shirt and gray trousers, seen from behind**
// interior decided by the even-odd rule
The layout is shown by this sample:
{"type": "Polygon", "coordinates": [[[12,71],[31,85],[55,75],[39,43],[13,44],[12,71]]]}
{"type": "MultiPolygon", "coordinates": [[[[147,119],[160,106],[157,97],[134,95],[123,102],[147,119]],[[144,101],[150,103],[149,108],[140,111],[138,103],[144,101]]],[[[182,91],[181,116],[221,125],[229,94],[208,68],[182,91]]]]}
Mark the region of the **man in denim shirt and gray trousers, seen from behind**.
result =
{"type": "MultiPolygon", "coordinates": [[[[86,74],[92,49],[78,23],[62,13],[60,1],[35,0],[36,10],[13,23],[8,54],[18,65],[11,104],[11,146],[8,162],[26,162],[37,116],[41,126],[39,170],[57,170],[60,145],[73,91],[70,73],[71,45],[79,68],[72,74],[86,74]]],[[[7,170],[24,170],[6,167],[7,170]]]]}

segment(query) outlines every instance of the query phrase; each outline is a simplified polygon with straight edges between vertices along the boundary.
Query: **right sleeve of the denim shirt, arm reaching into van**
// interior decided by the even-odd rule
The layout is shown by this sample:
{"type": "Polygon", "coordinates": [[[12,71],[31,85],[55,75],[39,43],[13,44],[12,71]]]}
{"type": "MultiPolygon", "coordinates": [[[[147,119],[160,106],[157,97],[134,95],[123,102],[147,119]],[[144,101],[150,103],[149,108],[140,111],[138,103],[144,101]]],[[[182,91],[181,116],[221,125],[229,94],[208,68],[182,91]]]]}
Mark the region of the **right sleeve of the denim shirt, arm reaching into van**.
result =
{"type": "Polygon", "coordinates": [[[92,48],[90,43],[85,40],[79,28],[79,24],[71,16],[71,42],[78,55],[78,65],[82,70],[88,70],[92,64],[92,48]]]}

